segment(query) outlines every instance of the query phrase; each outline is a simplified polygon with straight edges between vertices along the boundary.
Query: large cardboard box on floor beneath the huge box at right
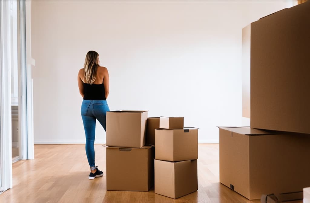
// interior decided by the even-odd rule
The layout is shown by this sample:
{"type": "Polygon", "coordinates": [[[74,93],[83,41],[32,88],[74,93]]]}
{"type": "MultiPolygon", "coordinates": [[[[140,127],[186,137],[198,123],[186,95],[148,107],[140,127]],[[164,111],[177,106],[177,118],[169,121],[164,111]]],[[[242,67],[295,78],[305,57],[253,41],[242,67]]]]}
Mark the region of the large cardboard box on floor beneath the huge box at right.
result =
{"type": "Polygon", "coordinates": [[[310,135],[219,129],[219,181],[248,199],[302,191],[310,184],[310,135]]]}

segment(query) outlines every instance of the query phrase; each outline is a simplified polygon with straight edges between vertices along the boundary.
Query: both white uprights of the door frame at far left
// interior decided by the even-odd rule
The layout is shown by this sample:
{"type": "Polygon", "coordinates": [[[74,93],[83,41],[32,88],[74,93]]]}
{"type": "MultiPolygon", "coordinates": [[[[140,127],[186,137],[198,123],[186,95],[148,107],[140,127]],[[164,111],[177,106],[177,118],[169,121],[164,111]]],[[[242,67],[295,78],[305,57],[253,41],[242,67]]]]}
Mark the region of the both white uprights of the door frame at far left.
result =
{"type": "MultiPolygon", "coordinates": [[[[34,159],[31,0],[0,0],[0,194],[12,188],[11,11],[17,6],[20,159],[34,159]],[[17,4],[16,4],[17,2],[17,4]],[[18,5],[18,6],[17,6],[18,5]]],[[[14,15],[14,14],[13,14],[14,15]]],[[[15,14],[16,15],[16,14],[15,14]]],[[[15,59],[14,59],[15,60],[15,59]]]]}

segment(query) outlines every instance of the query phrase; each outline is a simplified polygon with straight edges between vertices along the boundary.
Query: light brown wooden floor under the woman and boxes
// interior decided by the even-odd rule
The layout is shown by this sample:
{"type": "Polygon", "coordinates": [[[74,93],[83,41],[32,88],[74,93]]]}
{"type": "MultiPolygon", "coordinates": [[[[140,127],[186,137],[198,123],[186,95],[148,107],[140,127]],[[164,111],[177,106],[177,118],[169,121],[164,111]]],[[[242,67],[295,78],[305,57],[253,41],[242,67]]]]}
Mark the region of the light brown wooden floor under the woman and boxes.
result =
{"type": "MultiPolygon", "coordinates": [[[[219,145],[198,147],[198,191],[179,199],[149,192],[106,191],[105,147],[95,145],[104,176],[89,180],[84,145],[35,145],[35,159],[13,164],[13,189],[0,202],[255,202],[219,183],[219,145]]],[[[301,201],[302,202],[302,201],[301,201]]]]}

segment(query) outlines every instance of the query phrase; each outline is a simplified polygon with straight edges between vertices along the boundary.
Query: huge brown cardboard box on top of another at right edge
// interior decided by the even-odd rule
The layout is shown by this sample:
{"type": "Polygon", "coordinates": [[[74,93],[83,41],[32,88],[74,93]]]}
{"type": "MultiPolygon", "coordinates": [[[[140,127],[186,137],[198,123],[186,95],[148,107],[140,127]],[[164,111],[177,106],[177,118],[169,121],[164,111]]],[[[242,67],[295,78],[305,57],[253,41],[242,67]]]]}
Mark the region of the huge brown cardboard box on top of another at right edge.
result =
{"type": "Polygon", "coordinates": [[[251,23],[250,125],[310,134],[310,1],[251,23]]]}

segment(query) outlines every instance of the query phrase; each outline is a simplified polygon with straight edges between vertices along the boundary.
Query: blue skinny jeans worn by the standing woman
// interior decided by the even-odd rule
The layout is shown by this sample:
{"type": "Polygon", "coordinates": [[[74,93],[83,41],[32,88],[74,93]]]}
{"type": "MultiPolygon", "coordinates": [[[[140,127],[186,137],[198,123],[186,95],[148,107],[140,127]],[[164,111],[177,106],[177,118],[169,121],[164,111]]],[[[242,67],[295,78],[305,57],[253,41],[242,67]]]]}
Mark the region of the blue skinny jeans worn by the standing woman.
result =
{"type": "Polygon", "coordinates": [[[106,100],[83,100],[81,115],[86,137],[86,156],[90,167],[95,166],[95,129],[96,119],[106,131],[106,117],[109,106],[106,100]]]}

